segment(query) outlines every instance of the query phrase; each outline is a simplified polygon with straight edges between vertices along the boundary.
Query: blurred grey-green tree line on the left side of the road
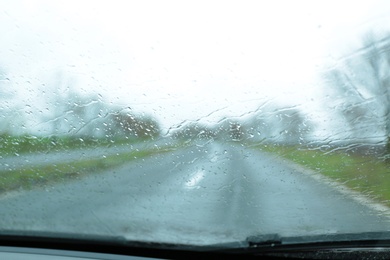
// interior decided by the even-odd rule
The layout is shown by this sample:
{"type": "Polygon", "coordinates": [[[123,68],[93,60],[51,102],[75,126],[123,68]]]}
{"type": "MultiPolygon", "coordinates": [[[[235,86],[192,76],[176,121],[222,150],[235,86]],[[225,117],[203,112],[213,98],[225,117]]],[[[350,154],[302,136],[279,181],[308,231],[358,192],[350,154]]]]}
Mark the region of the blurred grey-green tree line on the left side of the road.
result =
{"type": "Polygon", "coordinates": [[[30,130],[45,136],[109,140],[160,135],[160,126],[150,115],[108,104],[99,95],[82,95],[74,90],[74,79],[61,72],[53,78],[39,100],[23,104],[8,90],[9,79],[0,70],[0,135],[28,135],[30,130]]]}

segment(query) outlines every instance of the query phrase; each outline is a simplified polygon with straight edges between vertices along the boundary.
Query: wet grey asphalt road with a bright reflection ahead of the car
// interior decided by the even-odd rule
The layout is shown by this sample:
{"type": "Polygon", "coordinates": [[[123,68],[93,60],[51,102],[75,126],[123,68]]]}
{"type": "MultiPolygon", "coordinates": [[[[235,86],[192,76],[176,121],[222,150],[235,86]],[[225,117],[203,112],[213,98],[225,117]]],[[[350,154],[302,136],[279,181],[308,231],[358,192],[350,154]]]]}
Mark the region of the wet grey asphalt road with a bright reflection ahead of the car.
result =
{"type": "Polygon", "coordinates": [[[389,218],[272,155],[194,145],[0,198],[0,229],[220,243],[390,230],[389,218]]]}

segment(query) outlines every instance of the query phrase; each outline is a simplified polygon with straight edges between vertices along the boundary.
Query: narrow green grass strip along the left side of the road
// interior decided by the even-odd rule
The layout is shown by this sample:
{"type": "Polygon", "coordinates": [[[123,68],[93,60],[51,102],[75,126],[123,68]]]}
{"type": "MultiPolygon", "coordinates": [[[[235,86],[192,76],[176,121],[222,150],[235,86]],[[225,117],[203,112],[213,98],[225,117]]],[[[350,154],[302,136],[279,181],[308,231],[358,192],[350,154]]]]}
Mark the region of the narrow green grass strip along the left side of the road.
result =
{"type": "Polygon", "coordinates": [[[0,172],[0,193],[16,189],[31,189],[36,186],[81,178],[88,174],[98,174],[133,160],[168,151],[171,149],[132,151],[104,158],[2,171],[0,172]]]}

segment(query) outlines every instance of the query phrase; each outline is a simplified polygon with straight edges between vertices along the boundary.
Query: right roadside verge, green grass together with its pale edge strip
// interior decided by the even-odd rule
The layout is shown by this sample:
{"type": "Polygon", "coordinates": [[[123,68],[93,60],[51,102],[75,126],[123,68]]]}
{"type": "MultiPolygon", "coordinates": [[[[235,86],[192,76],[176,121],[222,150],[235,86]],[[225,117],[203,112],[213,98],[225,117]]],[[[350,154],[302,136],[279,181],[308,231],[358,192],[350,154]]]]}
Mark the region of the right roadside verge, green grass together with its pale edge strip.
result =
{"type": "Polygon", "coordinates": [[[276,154],[275,159],[297,172],[325,183],[341,194],[390,218],[390,178],[386,174],[384,162],[382,165],[369,158],[354,158],[345,154],[330,155],[292,147],[249,147],[276,154]]]}

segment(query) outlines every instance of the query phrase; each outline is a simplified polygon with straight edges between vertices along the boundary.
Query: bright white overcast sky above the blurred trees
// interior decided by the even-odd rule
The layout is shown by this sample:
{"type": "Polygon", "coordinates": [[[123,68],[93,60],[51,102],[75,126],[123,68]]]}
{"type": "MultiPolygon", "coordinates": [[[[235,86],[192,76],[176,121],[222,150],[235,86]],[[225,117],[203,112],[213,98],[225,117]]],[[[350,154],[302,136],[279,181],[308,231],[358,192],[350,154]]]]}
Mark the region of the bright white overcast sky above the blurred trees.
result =
{"type": "Polygon", "coordinates": [[[390,24],[390,3],[379,0],[0,4],[0,68],[9,79],[0,94],[42,109],[61,77],[164,128],[213,123],[269,101],[325,117],[321,73],[358,48],[363,33],[390,24]]]}

